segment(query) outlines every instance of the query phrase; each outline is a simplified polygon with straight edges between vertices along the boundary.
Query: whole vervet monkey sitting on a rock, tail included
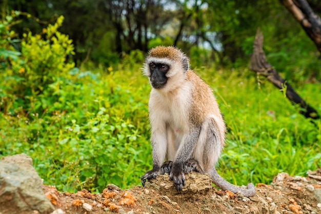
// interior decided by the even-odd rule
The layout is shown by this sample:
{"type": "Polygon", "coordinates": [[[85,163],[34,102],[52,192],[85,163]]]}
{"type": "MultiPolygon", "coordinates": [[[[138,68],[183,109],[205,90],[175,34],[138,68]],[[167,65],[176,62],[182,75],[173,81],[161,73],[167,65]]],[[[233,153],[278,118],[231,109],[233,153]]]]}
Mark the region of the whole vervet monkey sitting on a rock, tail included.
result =
{"type": "Polygon", "coordinates": [[[211,88],[190,70],[188,57],[175,47],[150,50],[143,72],[152,90],[149,99],[153,169],[141,178],[169,173],[177,191],[185,185],[184,173],[208,174],[223,190],[255,194],[252,183],[240,188],[225,181],[215,169],[225,143],[226,125],[211,88]],[[164,161],[166,162],[164,163],[164,161]]]}

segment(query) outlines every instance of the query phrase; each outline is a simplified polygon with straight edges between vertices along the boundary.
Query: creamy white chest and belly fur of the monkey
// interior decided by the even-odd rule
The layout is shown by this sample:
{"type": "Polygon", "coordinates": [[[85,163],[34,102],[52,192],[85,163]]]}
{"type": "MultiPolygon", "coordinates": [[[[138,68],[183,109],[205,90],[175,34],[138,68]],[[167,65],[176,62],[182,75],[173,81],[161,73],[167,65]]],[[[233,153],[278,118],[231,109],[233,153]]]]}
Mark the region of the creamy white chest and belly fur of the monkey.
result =
{"type": "Polygon", "coordinates": [[[166,138],[163,139],[166,159],[170,161],[174,160],[177,149],[189,132],[191,98],[186,95],[190,94],[190,90],[190,85],[186,84],[174,93],[162,94],[155,89],[151,91],[149,116],[152,132],[163,133],[166,138]]]}

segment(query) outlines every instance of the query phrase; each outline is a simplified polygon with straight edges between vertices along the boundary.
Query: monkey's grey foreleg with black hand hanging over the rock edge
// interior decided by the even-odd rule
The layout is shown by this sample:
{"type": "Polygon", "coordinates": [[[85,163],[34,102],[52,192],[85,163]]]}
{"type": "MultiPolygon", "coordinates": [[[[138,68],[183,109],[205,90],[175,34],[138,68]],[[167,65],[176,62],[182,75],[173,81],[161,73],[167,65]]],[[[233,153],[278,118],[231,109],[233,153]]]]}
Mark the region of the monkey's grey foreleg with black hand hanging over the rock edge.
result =
{"type": "Polygon", "coordinates": [[[169,178],[173,180],[177,191],[182,190],[183,186],[185,186],[184,165],[190,160],[199,136],[199,131],[200,128],[191,130],[176,152],[169,178]]]}

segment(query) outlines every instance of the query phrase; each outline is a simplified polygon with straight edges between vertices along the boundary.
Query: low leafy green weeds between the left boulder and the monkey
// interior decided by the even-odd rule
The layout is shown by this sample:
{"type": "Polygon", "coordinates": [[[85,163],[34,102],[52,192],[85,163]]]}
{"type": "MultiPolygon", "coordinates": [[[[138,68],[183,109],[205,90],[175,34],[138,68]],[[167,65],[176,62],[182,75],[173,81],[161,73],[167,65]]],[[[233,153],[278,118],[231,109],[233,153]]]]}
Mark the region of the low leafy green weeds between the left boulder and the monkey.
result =
{"type": "Polygon", "coordinates": [[[146,80],[124,82],[125,71],[72,73],[42,115],[2,113],[0,123],[11,125],[1,127],[0,154],[27,153],[45,183],[61,190],[138,185],[152,164],[146,80]]]}

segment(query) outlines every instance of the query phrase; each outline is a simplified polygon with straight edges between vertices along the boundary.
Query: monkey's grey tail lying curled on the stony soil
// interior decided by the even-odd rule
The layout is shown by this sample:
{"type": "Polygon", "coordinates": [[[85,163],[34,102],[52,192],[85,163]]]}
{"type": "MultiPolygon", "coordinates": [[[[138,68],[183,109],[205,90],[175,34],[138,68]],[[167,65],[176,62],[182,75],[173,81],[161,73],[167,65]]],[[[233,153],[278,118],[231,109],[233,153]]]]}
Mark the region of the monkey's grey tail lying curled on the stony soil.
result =
{"type": "Polygon", "coordinates": [[[223,190],[229,190],[231,192],[237,193],[240,192],[243,194],[243,196],[245,197],[251,197],[254,196],[256,190],[254,187],[253,183],[249,183],[247,185],[247,189],[245,188],[241,188],[239,186],[236,186],[234,184],[231,184],[229,182],[227,182],[226,180],[224,180],[224,178],[222,178],[216,171],[215,167],[213,167],[210,171],[209,171],[209,176],[211,177],[211,179],[213,180],[213,183],[218,186],[219,188],[223,189],[223,190]]]}

